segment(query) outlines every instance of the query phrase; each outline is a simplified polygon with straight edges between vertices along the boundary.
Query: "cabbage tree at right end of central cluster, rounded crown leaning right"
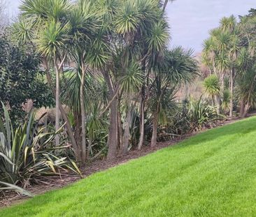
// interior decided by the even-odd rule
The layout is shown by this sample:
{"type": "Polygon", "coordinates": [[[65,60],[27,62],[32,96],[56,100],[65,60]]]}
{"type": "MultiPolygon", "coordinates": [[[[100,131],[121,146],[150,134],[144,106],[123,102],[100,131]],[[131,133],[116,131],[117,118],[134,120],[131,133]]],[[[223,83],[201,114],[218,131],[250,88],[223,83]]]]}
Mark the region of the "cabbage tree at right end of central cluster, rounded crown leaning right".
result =
{"type": "MultiPolygon", "coordinates": [[[[169,96],[169,103],[172,102],[175,89],[186,82],[191,82],[197,75],[197,61],[192,56],[192,50],[183,50],[177,47],[171,51],[165,50],[162,60],[155,62],[152,66],[154,80],[152,81],[152,138],[151,147],[157,142],[157,128],[159,114],[163,114],[166,96],[169,96]]],[[[173,105],[173,103],[171,104],[173,105]]]]}

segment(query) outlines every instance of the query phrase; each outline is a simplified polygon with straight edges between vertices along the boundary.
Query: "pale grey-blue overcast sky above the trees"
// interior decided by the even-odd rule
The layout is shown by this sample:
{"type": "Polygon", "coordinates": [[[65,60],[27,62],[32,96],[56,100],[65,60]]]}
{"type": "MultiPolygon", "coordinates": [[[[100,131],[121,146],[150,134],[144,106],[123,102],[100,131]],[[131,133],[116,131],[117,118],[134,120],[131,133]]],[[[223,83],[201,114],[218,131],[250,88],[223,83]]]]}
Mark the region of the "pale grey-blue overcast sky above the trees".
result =
{"type": "MultiPolygon", "coordinates": [[[[53,1],[53,0],[52,0],[53,1]]],[[[8,0],[10,14],[17,14],[20,0],[8,0]]],[[[171,45],[182,45],[201,51],[209,29],[218,27],[221,17],[245,15],[256,8],[256,0],[176,0],[169,3],[166,13],[171,25],[171,45]]]]}

